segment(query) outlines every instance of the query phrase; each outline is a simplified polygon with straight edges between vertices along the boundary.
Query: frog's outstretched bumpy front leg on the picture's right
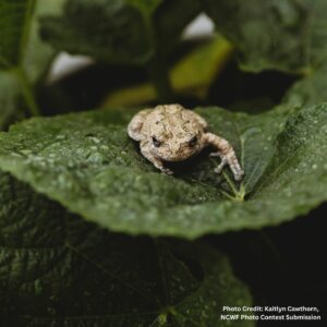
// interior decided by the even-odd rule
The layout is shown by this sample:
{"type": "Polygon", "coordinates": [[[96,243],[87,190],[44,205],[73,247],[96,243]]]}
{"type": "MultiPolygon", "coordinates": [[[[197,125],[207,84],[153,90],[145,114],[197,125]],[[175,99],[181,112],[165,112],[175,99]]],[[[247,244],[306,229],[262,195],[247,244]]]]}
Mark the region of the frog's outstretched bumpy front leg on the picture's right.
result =
{"type": "Polygon", "coordinates": [[[239,164],[234,149],[228,141],[213,133],[206,133],[204,137],[208,145],[213,145],[217,149],[217,152],[213,153],[211,156],[220,157],[221,159],[221,164],[215,169],[215,172],[220,173],[222,168],[226,165],[229,165],[234,175],[234,180],[241,181],[243,179],[244,171],[239,164]]]}

